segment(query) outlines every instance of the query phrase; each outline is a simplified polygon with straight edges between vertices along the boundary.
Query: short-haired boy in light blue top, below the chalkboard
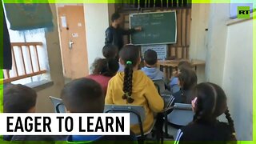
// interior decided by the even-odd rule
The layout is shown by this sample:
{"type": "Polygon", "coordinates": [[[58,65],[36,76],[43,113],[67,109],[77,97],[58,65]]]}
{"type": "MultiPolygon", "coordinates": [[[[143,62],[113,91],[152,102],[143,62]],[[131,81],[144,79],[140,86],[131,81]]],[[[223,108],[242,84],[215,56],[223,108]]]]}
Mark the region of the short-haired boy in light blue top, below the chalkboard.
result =
{"type": "Polygon", "coordinates": [[[142,71],[152,80],[163,79],[164,75],[157,67],[158,54],[154,50],[146,50],[142,71]]]}

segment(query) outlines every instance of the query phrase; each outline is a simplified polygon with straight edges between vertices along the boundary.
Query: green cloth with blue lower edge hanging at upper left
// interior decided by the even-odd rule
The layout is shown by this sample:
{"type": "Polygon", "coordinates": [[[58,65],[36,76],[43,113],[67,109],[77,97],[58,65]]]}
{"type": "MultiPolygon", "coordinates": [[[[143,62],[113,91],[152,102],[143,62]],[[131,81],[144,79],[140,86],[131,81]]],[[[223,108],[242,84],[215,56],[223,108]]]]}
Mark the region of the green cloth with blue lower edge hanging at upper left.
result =
{"type": "Polygon", "coordinates": [[[6,3],[6,17],[10,30],[51,30],[53,15],[48,3],[6,3]]]}

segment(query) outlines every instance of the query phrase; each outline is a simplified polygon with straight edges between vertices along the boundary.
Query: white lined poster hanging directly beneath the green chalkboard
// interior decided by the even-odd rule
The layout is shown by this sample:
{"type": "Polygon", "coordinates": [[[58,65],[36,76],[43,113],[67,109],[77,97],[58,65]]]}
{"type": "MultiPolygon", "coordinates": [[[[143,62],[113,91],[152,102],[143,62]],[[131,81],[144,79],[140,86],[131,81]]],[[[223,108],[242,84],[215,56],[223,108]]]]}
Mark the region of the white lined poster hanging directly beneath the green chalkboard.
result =
{"type": "Polygon", "coordinates": [[[167,50],[167,45],[146,45],[142,46],[142,56],[144,58],[144,53],[146,50],[154,50],[158,54],[158,60],[164,60],[166,59],[166,50],[167,50]]]}

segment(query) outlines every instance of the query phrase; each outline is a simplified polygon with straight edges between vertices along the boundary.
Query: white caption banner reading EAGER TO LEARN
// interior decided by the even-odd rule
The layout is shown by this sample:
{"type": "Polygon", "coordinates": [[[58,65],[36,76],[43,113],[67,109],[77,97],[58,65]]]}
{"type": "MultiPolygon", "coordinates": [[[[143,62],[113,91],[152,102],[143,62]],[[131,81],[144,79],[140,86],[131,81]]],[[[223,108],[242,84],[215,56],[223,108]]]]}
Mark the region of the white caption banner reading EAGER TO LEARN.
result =
{"type": "Polygon", "coordinates": [[[129,135],[128,113],[2,113],[0,135],[129,135]]]}

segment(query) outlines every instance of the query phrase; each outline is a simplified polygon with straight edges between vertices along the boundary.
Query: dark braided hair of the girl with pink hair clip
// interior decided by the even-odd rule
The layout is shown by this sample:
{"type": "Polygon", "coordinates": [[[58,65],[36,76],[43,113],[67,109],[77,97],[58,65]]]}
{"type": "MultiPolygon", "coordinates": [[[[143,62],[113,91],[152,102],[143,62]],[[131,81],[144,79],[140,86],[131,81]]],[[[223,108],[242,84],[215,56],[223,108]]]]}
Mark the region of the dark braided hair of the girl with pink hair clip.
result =
{"type": "Polygon", "coordinates": [[[203,82],[195,86],[194,94],[197,99],[194,102],[195,114],[193,122],[214,124],[218,122],[216,118],[224,113],[226,114],[230,131],[229,137],[226,139],[235,143],[234,121],[230,116],[230,111],[227,109],[224,90],[214,83],[203,82]]]}

